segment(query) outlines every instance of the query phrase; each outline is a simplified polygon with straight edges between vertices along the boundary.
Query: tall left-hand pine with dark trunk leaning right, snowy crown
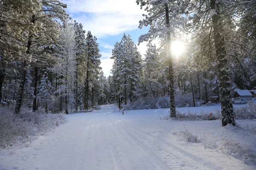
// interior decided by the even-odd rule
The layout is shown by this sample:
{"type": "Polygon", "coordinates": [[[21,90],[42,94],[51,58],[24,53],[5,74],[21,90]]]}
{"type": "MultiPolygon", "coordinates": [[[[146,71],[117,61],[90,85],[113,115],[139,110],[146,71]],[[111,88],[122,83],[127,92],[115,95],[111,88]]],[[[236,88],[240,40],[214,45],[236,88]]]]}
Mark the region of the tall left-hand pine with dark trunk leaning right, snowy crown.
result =
{"type": "Polygon", "coordinates": [[[20,113],[26,72],[29,62],[32,62],[32,55],[37,55],[36,51],[39,49],[39,44],[51,45],[52,37],[58,35],[58,26],[56,26],[57,21],[55,19],[63,20],[67,18],[66,11],[63,9],[67,5],[55,0],[41,0],[39,2],[40,6],[37,8],[35,6],[32,7],[31,15],[23,17],[26,28],[23,31],[23,40],[20,43],[26,47],[26,53],[23,54],[25,57],[21,58],[23,61],[23,72],[15,106],[16,114],[20,113]]]}

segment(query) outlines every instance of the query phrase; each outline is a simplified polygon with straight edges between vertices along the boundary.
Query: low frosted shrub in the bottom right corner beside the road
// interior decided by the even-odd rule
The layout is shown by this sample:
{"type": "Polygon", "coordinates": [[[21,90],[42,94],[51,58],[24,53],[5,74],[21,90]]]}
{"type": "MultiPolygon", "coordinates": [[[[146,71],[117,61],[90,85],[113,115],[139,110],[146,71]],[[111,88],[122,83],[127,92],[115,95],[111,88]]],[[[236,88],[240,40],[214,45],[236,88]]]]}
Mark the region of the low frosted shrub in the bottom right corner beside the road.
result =
{"type": "Polygon", "coordinates": [[[256,164],[256,153],[242,147],[239,142],[236,142],[230,137],[222,138],[221,146],[218,149],[246,163],[256,164]]]}

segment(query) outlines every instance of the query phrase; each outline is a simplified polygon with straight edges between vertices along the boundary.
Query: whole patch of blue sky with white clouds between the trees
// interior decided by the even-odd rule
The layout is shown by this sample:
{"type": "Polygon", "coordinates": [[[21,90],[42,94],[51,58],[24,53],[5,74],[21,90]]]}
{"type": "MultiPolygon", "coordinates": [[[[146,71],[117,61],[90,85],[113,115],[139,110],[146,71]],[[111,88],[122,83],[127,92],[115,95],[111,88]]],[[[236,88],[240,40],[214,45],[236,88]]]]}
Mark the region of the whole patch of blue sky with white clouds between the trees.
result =
{"type": "MultiPolygon", "coordinates": [[[[116,41],[120,41],[123,33],[130,34],[137,44],[141,34],[148,28],[139,29],[139,20],[145,12],[137,5],[136,0],[63,0],[67,4],[67,13],[73,20],[81,23],[85,31],[91,31],[98,39],[101,66],[106,76],[110,75],[113,60],[112,49],[116,41]]],[[[146,51],[146,42],[138,46],[143,55],[146,51]]],[[[144,55],[143,55],[144,56],[144,55]]]]}

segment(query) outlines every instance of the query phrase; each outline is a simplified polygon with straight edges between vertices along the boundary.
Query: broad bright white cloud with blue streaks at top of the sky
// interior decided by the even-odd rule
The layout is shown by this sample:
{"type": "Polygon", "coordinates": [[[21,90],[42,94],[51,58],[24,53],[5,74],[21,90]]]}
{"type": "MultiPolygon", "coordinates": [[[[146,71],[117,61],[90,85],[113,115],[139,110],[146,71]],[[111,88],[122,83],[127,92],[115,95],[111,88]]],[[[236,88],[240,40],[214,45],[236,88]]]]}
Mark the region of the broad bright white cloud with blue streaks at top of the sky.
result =
{"type": "Polygon", "coordinates": [[[64,0],[67,12],[97,38],[136,29],[144,10],[135,0],[64,0]]]}

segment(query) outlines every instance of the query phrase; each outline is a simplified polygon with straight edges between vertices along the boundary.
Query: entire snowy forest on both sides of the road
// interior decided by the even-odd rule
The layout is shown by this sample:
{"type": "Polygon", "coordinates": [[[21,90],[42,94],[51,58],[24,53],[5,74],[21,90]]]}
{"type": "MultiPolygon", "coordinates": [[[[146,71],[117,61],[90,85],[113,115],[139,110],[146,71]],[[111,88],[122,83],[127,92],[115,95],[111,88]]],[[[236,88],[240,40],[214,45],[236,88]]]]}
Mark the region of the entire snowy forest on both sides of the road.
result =
{"type": "Polygon", "coordinates": [[[138,45],[146,41],[147,51],[140,54],[124,33],[105,77],[97,37],[69,17],[66,4],[2,0],[1,108],[68,114],[116,103],[125,110],[170,108],[175,117],[179,107],[221,103],[222,126],[235,125],[234,90],[256,86],[256,2],[136,3],[145,10],[138,26],[148,28],[138,45]],[[184,51],[176,55],[180,42],[184,51]]]}

